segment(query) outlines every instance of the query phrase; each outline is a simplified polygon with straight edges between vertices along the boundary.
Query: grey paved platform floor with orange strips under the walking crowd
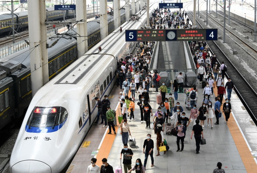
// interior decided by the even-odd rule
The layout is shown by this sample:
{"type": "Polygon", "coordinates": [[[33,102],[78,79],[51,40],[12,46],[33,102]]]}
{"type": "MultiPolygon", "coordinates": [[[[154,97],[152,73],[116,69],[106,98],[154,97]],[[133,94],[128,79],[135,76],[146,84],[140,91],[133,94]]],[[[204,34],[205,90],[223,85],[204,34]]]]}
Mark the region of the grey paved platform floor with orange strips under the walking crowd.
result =
{"type": "MultiPolygon", "coordinates": [[[[199,108],[203,99],[203,89],[201,84],[198,87],[198,104],[199,108]]],[[[118,93],[122,91],[119,88],[114,88],[108,99],[111,102],[111,108],[116,109],[118,115],[118,93]]],[[[214,89],[215,95],[217,95],[217,88],[214,89]]],[[[130,93],[129,93],[130,95],[130,93]]],[[[156,103],[157,93],[154,90],[149,91],[150,105],[153,113],[156,112],[158,104],[156,103]]],[[[226,96],[225,96],[226,97],[226,96]]],[[[210,97],[214,102],[214,96],[210,97]]],[[[156,134],[153,129],[145,129],[145,123],[140,122],[140,110],[136,104],[138,102],[138,94],[136,94],[135,100],[135,121],[128,122],[131,130],[131,135],[136,139],[136,147],[130,147],[134,153],[132,157],[132,166],[134,166],[137,158],[144,160],[143,143],[147,134],[152,135],[154,140],[154,167],[151,166],[150,158],[148,158],[146,172],[212,172],[215,169],[217,162],[222,162],[222,168],[226,173],[230,172],[255,172],[257,170],[256,159],[254,152],[251,148],[256,149],[256,130],[255,124],[245,123],[249,121],[250,116],[243,110],[243,106],[240,100],[236,96],[235,92],[232,92],[231,104],[232,113],[228,124],[225,124],[224,115],[220,118],[219,125],[213,125],[214,128],[207,127],[207,121],[205,121],[204,137],[206,139],[206,145],[201,145],[200,154],[196,154],[195,140],[190,139],[192,124],[189,125],[186,132],[186,138],[184,142],[183,152],[176,152],[176,137],[166,135],[164,137],[170,146],[170,150],[164,155],[156,157],[156,134]],[[238,121],[237,118],[241,119],[238,121]],[[240,127],[241,126],[241,127],[240,127]],[[254,134],[255,133],[255,134],[254,134]]],[[[186,112],[186,117],[190,116],[190,111],[185,106],[184,93],[178,94],[178,102],[186,112]]],[[[223,100],[225,102],[225,100],[223,100]]],[[[118,122],[118,116],[116,116],[118,122]]],[[[151,117],[152,122],[153,117],[151,117]]],[[[215,118],[213,122],[215,123],[215,118]]],[[[174,120],[172,123],[175,123],[174,120]]],[[[123,148],[121,134],[119,134],[119,128],[116,126],[117,134],[107,134],[108,128],[102,127],[102,125],[93,125],[84,139],[82,147],[78,150],[77,155],[71,162],[70,168],[67,172],[85,172],[87,166],[90,165],[90,159],[92,157],[97,158],[97,165],[101,166],[101,160],[103,158],[108,159],[108,163],[115,169],[120,165],[119,154],[123,148]],[[90,143],[89,143],[90,142],[90,143]]]]}

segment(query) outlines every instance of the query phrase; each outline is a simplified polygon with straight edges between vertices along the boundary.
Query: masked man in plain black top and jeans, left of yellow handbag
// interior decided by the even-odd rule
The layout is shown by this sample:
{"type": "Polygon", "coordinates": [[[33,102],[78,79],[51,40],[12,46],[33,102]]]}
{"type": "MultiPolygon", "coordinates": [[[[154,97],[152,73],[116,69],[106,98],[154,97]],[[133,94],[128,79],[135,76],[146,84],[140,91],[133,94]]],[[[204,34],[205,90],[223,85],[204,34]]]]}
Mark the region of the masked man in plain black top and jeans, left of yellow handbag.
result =
{"type": "Polygon", "coordinates": [[[143,145],[143,153],[144,153],[144,169],[146,167],[148,155],[150,154],[151,157],[151,167],[154,166],[154,157],[153,157],[153,149],[154,149],[154,141],[151,139],[151,134],[147,134],[147,139],[144,140],[144,145],[143,145]],[[144,151],[145,149],[145,151],[144,151]]]}

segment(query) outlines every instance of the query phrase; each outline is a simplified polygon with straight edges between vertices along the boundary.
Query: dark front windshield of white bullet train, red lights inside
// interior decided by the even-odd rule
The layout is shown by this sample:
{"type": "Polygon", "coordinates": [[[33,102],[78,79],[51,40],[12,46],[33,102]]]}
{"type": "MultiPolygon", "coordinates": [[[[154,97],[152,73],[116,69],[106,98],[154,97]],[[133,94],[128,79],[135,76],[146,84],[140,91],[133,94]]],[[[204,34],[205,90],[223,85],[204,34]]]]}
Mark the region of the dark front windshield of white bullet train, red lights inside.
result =
{"type": "Polygon", "coordinates": [[[54,127],[63,123],[68,117],[64,107],[35,107],[30,114],[29,127],[54,127]]]}

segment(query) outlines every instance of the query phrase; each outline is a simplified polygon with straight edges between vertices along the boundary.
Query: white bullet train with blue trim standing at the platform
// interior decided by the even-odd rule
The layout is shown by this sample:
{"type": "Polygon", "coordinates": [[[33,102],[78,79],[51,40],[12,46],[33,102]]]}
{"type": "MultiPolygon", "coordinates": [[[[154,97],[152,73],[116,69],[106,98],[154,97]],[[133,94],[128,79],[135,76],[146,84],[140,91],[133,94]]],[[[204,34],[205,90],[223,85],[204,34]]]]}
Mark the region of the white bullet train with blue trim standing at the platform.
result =
{"type": "MultiPolygon", "coordinates": [[[[157,4],[150,4],[150,14],[157,4]]],[[[125,42],[125,29],[140,29],[140,21],[128,21],[71,66],[43,86],[33,97],[15,142],[11,173],[65,171],[92,126],[95,97],[108,95],[115,85],[116,57],[135,49],[125,42]],[[98,53],[98,47],[102,51],[98,53]]]]}

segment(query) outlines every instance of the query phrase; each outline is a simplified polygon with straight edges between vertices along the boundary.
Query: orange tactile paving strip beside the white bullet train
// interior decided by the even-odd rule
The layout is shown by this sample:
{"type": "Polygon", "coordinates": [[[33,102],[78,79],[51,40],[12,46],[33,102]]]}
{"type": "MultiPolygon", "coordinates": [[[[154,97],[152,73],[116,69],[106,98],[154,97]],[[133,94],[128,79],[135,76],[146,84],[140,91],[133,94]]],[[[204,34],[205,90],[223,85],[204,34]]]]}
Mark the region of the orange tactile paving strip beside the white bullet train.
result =
{"type": "MultiPolygon", "coordinates": [[[[131,92],[128,93],[128,97],[130,97],[131,95],[131,92]]],[[[119,133],[120,131],[118,130],[119,129],[119,121],[118,121],[118,116],[119,116],[119,113],[118,113],[118,109],[121,107],[120,104],[118,104],[118,108],[116,109],[116,120],[117,120],[117,126],[115,126],[115,131],[116,131],[116,134],[119,133]]],[[[96,155],[96,158],[97,158],[97,162],[96,162],[96,165],[102,165],[102,159],[103,158],[108,158],[109,156],[109,153],[111,151],[111,148],[113,146],[113,142],[114,142],[114,139],[116,137],[116,134],[113,133],[113,130],[112,130],[112,134],[107,134],[109,132],[109,130],[107,130],[106,132],[106,135],[105,135],[105,138],[103,140],[103,143],[96,155]]]]}

